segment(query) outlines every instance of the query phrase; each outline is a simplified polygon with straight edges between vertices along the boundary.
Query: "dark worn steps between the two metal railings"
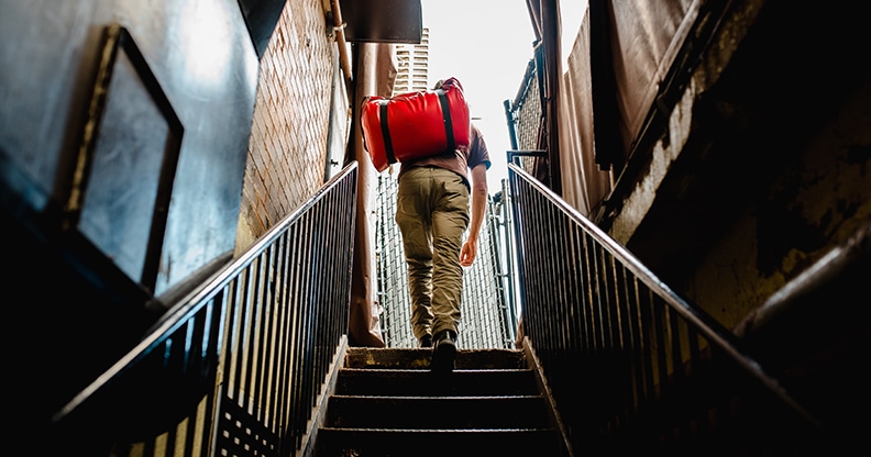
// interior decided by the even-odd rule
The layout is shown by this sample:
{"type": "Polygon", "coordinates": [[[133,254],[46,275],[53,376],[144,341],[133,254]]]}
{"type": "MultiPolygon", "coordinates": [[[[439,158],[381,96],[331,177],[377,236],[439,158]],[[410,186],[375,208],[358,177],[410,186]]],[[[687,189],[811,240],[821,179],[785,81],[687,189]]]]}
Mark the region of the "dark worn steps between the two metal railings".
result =
{"type": "Polygon", "coordinates": [[[315,456],[570,455],[533,357],[460,349],[454,371],[438,375],[430,354],[349,348],[315,456]]]}

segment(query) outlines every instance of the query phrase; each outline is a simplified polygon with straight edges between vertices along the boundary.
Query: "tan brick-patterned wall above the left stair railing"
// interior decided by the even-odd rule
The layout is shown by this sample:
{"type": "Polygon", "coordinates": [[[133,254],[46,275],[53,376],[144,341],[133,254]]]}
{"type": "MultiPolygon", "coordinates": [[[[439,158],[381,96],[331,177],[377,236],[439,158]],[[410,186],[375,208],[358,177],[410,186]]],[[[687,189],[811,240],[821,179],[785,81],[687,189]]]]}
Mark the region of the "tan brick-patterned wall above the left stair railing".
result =
{"type": "Polygon", "coordinates": [[[327,31],[320,0],[288,0],[261,58],[236,254],[324,182],[335,49],[327,31]]]}

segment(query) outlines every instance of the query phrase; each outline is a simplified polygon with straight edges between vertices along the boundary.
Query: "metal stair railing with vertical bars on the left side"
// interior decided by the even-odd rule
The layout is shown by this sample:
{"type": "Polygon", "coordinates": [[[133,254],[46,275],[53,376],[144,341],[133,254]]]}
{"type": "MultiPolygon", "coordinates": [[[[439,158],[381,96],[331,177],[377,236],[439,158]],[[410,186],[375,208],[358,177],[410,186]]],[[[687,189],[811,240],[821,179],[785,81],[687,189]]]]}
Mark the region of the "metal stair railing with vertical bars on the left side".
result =
{"type": "Polygon", "coordinates": [[[55,415],[46,455],[295,454],[346,342],[356,182],[353,163],[173,306],[55,415]]]}

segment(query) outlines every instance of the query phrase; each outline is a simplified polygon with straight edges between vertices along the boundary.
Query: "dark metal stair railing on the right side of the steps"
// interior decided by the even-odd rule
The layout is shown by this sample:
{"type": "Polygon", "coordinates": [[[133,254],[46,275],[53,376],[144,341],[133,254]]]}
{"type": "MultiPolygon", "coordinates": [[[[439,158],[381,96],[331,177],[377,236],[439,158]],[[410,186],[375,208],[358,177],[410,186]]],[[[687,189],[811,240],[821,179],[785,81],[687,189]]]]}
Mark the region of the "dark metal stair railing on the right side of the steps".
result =
{"type": "Polygon", "coordinates": [[[758,450],[825,436],[730,332],[516,164],[508,170],[525,344],[574,449],[695,452],[720,439],[758,450]]]}

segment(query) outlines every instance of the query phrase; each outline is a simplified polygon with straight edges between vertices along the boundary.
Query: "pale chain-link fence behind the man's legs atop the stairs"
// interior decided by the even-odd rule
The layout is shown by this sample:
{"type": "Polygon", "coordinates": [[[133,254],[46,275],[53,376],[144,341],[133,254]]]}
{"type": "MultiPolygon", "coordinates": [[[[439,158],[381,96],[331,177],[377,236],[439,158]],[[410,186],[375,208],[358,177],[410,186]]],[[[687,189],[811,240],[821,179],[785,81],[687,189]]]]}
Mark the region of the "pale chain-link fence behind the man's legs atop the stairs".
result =
{"type": "MultiPolygon", "coordinates": [[[[392,172],[378,177],[376,256],[382,336],[386,347],[417,347],[411,331],[411,302],[403,237],[396,225],[397,179],[392,172]]],[[[504,271],[504,234],[496,205],[487,203],[485,223],[478,237],[478,255],[464,269],[462,322],[457,345],[467,349],[514,347],[514,312],[508,305],[504,271]]]]}

